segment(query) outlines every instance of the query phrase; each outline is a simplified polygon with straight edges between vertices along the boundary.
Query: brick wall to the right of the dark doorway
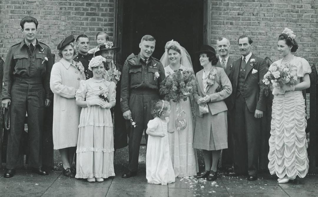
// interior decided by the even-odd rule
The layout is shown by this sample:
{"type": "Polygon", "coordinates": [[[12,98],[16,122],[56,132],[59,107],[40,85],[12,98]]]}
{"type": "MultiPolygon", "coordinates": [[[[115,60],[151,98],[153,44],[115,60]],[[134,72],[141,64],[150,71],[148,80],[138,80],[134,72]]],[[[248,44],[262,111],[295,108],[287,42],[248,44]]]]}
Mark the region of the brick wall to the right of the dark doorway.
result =
{"type": "Polygon", "coordinates": [[[237,40],[245,34],[252,37],[253,52],[276,61],[277,38],[288,27],[295,32],[304,57],[318,68],[318,0],[212,0],[211,44],[226,36],[231,42],[231,54],[237,59],[237,40]]]}

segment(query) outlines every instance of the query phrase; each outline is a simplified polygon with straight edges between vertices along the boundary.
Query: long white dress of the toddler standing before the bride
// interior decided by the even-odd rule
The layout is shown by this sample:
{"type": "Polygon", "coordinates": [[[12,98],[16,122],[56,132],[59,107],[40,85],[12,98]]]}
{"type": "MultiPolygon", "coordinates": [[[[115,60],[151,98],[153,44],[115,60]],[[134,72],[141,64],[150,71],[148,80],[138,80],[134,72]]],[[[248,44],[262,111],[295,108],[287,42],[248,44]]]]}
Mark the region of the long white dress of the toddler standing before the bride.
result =
{"type": "Polygon", "coordinates": [[[169,153],[167,124],[169,119],[159,117],[148,122],[148,129],[165,133],[164,137],[148,136],[146,152],[146,178],[148,183],[167,185],[176,181],[169,153]]]}

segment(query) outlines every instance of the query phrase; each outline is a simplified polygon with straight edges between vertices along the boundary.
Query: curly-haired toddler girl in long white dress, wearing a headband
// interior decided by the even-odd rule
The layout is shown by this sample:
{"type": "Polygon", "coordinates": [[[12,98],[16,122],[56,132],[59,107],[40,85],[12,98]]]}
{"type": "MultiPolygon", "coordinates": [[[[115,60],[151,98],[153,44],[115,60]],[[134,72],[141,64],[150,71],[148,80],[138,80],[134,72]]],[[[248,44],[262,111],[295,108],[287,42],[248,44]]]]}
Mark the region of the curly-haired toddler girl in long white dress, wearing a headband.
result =
{"type": "Polygon", "coordinates": [[[176,181],[170,158],[168,129],[170,104],[160,100],[154,107],[154,119],[148,122],[146,133],[146,178],[148,183],[167,185],[176,181]]]}

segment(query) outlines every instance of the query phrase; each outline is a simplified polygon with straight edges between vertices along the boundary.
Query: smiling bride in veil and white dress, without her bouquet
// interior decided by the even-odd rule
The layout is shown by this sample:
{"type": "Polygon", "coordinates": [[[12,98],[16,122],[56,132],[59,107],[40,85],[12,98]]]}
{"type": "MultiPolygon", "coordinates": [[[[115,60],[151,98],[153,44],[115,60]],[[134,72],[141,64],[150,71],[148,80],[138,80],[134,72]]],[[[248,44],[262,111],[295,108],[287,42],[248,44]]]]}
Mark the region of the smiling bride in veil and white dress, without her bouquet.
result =
{"type": "MultiPolygon", "coordinates": [[[[191,70],[192,63],[189,53],[176,41],[169,41],[165,45],[165,52],[160,59],[166,76],[175,70],[191,70]]],[[[168,131],[174,131],[168,134],[170,155],[176,177],[195,176],[199,171],[197,152],[193,148],[194,122],[190,105],[190,96],[186,101],[177,104],[170,100],[171,113],[169,116],[168,131]],[[176,121],[181,109],[179,118],[185,119],[186,125],[177,129],[176,121]]]]}

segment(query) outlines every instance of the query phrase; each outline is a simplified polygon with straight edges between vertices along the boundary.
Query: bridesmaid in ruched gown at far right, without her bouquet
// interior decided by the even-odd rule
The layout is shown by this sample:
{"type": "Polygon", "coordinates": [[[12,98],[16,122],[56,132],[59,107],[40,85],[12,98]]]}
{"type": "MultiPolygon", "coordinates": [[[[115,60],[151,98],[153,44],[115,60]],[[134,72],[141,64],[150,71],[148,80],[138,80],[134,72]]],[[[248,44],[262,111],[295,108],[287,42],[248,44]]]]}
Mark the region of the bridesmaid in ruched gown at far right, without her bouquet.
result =
{"type": "MultiPolygon", "coordinates": [[[[278,176],[278,183],[287,183],[296,176],[304,178],[308,173],[306,111],[302,90],[309,88],[311,72],[308,61],[292,54],[298,49],[294,32],[285,29],[278,37],[280,65],[296,65],[298,84],[283,90],[273,89],[271,137],[269,139],[268,169],[278,176]]],[[[272,66],[272,65],[271,65],[272,66]]]]}

